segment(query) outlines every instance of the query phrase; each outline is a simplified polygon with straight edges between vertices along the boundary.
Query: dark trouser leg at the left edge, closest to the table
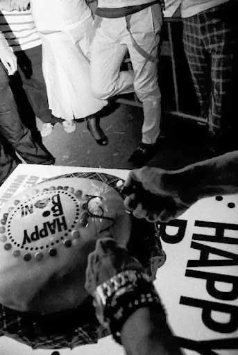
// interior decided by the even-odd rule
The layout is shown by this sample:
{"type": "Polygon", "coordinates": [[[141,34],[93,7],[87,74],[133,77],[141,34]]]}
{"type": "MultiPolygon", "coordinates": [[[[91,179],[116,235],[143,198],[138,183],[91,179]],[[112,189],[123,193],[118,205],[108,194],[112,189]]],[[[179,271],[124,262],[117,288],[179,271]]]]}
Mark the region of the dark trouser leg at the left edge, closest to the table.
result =
{"type": "Polygon", "coordinates": [[[53,156],[31,136],[31,131],[19,119],[9,79],[0,65],[0,132],[19,155],[29,164],[53,164],[53,156]]]}

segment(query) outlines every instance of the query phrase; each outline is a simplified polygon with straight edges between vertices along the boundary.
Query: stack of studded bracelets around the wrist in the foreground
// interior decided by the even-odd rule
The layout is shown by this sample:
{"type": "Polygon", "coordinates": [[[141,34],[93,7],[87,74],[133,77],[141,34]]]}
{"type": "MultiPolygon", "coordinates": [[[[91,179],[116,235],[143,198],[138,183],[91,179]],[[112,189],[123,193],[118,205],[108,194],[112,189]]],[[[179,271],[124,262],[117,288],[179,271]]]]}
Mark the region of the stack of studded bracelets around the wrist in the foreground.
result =
{"type": "Polygon", "coordinates": [[[94,292],[94,307],[99,322],[121,343],[121,328],[138,308],[153,304],[164,309],[151,278],[144,272],[126,270],[114,275],[94,292]]]}

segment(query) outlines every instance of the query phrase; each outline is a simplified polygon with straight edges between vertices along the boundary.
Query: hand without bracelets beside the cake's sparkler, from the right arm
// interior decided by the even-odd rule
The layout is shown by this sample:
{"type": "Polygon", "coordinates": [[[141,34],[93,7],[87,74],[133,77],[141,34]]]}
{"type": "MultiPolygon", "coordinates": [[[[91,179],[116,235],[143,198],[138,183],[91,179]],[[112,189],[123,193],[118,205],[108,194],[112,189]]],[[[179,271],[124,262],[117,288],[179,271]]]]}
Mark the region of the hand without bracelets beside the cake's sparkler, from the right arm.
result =
{"type": "Polygon", "coordinates": [[[180,216],[196,201],[188,197],[188,186],[186,189],[181,178],[148,166],[130,171],[122,190],[126,209],[149,222],[168,222],[180,216]]]}

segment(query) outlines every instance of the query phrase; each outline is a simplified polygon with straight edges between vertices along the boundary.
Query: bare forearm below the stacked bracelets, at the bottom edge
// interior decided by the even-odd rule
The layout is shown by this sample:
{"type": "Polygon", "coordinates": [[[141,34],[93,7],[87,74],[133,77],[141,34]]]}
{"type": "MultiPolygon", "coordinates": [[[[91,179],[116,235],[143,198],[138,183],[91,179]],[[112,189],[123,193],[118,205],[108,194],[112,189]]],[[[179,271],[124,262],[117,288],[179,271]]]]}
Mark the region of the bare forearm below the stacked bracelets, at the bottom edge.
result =
{"type": "Polygon", "coordinates": [[[180,355],[176,338],[164,316],[140,308],[126,320],[121,330],[126,355],[180,355]]]}

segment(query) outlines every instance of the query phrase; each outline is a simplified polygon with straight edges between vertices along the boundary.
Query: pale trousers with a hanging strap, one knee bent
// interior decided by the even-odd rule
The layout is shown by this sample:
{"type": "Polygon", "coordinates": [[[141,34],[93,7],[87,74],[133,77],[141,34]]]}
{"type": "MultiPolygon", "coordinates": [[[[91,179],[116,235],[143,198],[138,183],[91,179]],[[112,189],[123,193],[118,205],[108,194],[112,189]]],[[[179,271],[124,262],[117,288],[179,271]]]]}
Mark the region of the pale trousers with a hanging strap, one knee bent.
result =
{"type": "Polygon", "coordinates": [[[152,62],[133,46],[135,42],[153,58],[157,58],[162,10],[155,4],[130,17],[95,18],[95,33],[91,45],[92,93],[106,99],[117,94],[136,92],[142,101],[144,123],[142,142],[155,143],[160,134],[161,95],[158,86],[158,62],[152,62]],[[120,71],[126,52],[130,53],[133,71],[120,71]]]}

